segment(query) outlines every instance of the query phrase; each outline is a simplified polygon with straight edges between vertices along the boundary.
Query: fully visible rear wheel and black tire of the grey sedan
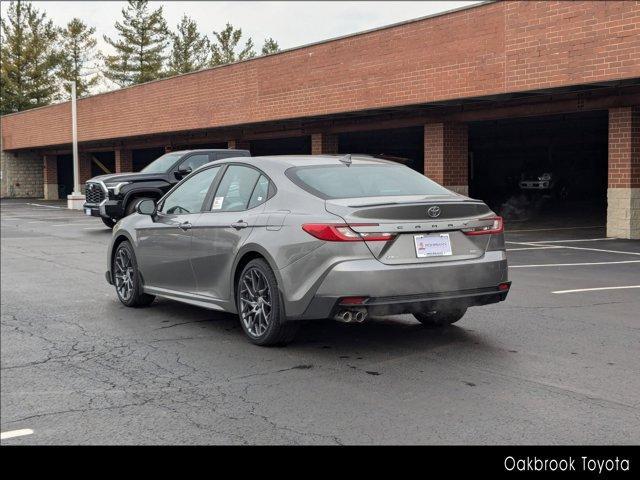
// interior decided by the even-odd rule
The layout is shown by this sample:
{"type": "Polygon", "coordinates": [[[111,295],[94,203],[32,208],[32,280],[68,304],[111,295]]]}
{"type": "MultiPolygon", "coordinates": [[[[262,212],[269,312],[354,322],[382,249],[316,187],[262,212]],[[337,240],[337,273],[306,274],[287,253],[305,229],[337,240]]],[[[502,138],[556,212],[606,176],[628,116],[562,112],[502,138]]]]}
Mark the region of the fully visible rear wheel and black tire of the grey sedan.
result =
{"type": "Polygon", "coordinates": [[[240,325],[251,343],[286,345],[298,331],[297,322],[286,321],[278,280],[261,258],[242,269],[236,285],[236,306],[240,325]]]}

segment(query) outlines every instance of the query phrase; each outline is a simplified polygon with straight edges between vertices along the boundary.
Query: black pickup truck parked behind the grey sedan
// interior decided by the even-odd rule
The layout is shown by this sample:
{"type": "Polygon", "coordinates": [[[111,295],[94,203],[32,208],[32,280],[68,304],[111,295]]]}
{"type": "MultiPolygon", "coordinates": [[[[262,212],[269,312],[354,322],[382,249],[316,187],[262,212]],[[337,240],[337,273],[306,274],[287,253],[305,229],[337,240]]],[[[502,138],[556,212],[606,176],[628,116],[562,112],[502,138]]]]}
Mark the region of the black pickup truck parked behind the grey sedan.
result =
{"type": "Polygon", "coordinates": [[[100,217],[113,228],[133,213],[140,200],[160,199],[171,187],[205,163],[223,158],[249,157],[248,150],[182,150],[155,159],[138,173],[116,173],[93,177],[86,183],[86,215],[100,217]]]}

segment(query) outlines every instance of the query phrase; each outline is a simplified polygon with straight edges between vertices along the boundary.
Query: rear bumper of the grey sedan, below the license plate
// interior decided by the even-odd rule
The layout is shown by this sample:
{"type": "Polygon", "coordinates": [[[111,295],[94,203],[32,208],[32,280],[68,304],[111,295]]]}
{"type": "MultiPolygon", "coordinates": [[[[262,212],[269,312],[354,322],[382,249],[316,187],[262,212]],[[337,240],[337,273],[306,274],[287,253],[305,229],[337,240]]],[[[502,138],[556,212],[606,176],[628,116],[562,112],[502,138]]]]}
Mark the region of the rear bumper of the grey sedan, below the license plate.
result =
{"type": "Polygon", "coordinates": [[[507,258],[503,250],[481,258],[419,265],[385,265],[378,260],[352,260],[334,265],[304,305],[287,305],[291,319],[332,317],[343,297],[367,297],[371,314],[390,315],[445,306],[500,302],[507,291],[507,258]],[[298,310],[299,313],[296,312],[298,310]]]}

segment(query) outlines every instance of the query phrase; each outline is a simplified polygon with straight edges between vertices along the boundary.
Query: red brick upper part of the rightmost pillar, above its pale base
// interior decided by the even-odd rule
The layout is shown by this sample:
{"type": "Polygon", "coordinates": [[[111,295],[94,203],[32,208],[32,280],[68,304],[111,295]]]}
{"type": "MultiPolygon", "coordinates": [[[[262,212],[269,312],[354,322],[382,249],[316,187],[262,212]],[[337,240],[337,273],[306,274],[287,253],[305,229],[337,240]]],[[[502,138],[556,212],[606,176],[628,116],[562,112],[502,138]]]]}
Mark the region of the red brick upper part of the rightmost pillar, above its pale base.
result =
{"type": "Polygon", "coordinates": [[[609,110],[609,188],[640,188],[640,107],[609,110]]]}

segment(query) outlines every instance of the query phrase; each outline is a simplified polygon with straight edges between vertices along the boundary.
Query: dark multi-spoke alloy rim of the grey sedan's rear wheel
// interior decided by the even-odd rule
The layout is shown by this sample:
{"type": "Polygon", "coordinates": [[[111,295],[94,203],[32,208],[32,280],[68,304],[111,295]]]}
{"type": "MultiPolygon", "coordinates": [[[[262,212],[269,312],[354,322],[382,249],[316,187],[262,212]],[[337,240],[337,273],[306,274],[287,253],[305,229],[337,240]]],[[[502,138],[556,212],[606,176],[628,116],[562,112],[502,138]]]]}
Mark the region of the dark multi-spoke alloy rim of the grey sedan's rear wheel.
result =
{"type": "Polygon", "coordinates": [[[240,281],[240,318],[247,331],[259,337],[271,322],[271,289],[265,275],[257,268],[244,272],[240,281]]]}

